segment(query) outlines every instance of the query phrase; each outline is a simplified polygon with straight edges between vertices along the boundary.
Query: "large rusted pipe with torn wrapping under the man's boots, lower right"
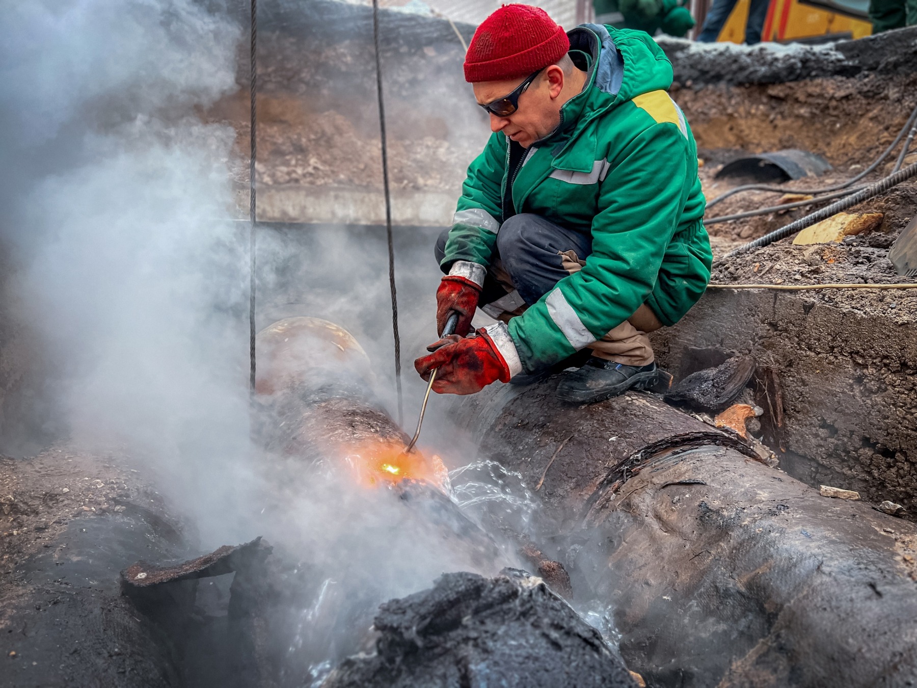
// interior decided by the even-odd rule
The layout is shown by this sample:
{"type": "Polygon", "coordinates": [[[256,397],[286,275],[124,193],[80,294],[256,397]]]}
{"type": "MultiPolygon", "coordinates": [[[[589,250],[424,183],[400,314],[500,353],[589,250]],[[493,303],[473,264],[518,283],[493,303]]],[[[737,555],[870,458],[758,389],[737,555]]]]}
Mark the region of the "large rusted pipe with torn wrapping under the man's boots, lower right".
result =
{"type": "Polygon", "coordinates": [[[653,395],[567,406],[556,383],[496,389],[466,417],[482,454],[543,482],[559,558],[613,611],[630,668],[658,686],[917,680],[917,527],[822,497],[653,395]]]}

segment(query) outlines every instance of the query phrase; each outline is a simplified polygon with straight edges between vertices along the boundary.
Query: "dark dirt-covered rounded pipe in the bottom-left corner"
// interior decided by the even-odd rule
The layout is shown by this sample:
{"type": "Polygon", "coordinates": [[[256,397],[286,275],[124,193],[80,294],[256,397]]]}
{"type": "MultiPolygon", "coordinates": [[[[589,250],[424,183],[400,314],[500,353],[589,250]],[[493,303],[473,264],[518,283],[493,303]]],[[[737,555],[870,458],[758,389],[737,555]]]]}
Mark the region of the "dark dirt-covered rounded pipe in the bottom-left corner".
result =
{"type": "Polygon", "coordinates": [[[177,532],[128,503],[119,513],[73,519],[46,547],[18,563],[0,594],[0,685],[180,685],[170,639],[117,583],[125,560],[182,553],[177,532]]]}

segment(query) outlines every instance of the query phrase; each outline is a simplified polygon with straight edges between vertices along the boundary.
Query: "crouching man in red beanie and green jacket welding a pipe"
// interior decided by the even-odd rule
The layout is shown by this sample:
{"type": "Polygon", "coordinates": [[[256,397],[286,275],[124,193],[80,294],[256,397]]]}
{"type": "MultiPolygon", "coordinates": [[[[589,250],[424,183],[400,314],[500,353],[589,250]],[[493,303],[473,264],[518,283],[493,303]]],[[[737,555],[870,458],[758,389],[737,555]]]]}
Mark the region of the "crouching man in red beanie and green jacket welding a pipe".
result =
{"type": "Polygon", "coordinates": [[[436,327],[414,361],[433,389],[473,394],[562,370],[558,396],[599,401],[656,382],[647,332],[703,294],[712,254],[691,129],[672,66],[642,31],[569,33],[507,5],[475,32],[465,78],[491,117],[436,258],[436,327]],[[481,308],[499,322],[469,335],[481,308]]]}

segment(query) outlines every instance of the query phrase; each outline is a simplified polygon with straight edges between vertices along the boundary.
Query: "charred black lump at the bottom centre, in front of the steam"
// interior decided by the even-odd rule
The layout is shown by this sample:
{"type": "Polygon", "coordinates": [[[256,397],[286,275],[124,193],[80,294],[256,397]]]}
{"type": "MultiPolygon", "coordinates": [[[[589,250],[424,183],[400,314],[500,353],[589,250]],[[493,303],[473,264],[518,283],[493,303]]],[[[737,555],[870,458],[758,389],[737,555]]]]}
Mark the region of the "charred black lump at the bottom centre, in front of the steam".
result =
{"type": "Polygon", "coordinates": [[[447,573],[380,607],[376,654],[345,660],[325,688],[635,686],[595,628],[539,578],[447,573]]]}

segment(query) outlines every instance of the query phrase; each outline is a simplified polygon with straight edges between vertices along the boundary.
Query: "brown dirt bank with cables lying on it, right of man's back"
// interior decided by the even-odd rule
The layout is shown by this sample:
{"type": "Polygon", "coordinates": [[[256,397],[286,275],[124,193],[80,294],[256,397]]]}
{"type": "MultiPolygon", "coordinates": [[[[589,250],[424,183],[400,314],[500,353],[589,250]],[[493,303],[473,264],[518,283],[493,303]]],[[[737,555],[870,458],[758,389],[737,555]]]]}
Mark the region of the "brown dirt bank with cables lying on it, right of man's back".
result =
{"type": "MultiPolygon", "coordinates": [[[[685,41],[664,43],[675,66],[676,82],[671,94],[684,110],[698,141],[703,190],[708,200],[747,182],[715,179],[724,163],[745,153],[795,148],[822,155],[832,165],[820,177],[776,184],[780,192],[732,195],[712,205],[706,218],[780,205],[796,200],[784,198],[786,194],[843,183],[866,169],[895,139],[917,106],[917,72],[901,66],[917,50],[914,46],[914,29],[820,48],[708,48],[685,41]],[[724,71],[726,62],[732,62],[734,69],[725,71],[728,74],[717,72],[724,71]]],[[[856,184],[878,181],[891,172],[899,150],[900,145],[856,184]]],[[[917,145],[911,144],[903,164],[915,161],[917,145]]],[[[802,205],[708,224],[714,256],[720,257],[825,205],[828,204],[802,205]]],[[[841,244],[793,246],[791,239],[784,239],[717,262],[713,282],[912,282],[895,273],[888,252],[900,231],[917,215],[917,178],[846,212],[882,213],[884,217],[875,231],[847,238],[841,244]]],[[[805,294],[819,303],[877,313],[895,322],[913,322],[917,318],[917,289],[819,290],[805,294]]]]}

